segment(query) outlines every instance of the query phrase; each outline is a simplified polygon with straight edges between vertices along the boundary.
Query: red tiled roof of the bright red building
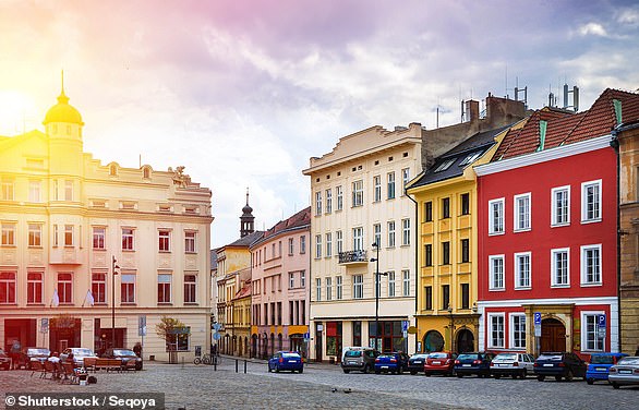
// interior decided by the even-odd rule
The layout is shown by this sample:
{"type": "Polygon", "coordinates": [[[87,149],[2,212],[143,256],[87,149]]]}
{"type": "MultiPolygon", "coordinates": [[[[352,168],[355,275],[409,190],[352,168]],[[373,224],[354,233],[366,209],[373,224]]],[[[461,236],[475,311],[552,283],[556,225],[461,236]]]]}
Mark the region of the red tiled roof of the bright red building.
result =
{"type": "Polygon", "coordinates": [[[546,121],[543,149],[606,135],[618,125],[614,100],[622,102],[623,122],[639,119],[639,94],[606,88],[583,112],[570,113],[547,107],[535,111],[523,128],[506,134],[492,160],[538,150],[540,121],[546,121]]]}

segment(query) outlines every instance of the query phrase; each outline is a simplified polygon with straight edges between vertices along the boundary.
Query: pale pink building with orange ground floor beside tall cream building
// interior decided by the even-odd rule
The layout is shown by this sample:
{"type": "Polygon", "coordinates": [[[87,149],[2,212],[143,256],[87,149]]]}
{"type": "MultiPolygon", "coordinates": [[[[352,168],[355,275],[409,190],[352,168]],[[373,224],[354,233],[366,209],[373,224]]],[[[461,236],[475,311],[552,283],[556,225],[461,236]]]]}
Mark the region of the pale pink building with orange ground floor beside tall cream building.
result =
{"type": "Polygon", "coordinates": [[[308,352],[310,227],[308,207],[251,245],[252,357],[266,358],[278,350],[308,352]]]}

